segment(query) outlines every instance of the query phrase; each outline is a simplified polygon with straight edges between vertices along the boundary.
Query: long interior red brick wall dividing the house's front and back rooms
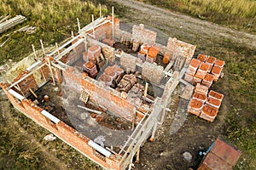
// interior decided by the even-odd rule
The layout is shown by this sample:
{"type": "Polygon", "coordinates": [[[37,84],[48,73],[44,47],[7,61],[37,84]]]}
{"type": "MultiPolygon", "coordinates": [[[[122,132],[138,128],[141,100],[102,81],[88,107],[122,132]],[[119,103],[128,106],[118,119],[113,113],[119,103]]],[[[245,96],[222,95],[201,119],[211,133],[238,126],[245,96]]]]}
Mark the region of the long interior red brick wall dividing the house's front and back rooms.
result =
{"type": "Polygon", "coordinates": [[[123,99],[119,92],[105,86],[102,82],[97,82],[88,77],[85,73],[74,73],[73,68],[68,68],[67,71],[63,71],[63,75],[67,85],[73,84],[71,88],[78,90],[79,93],[83,89],[90,95],[90,99],[94,100],[98,105],[102,105],[107,108],[108,111],[132,122],[136,107],[127,99],[123,99]],[[102,98],[102,96],[104,97],[102,98]]]}

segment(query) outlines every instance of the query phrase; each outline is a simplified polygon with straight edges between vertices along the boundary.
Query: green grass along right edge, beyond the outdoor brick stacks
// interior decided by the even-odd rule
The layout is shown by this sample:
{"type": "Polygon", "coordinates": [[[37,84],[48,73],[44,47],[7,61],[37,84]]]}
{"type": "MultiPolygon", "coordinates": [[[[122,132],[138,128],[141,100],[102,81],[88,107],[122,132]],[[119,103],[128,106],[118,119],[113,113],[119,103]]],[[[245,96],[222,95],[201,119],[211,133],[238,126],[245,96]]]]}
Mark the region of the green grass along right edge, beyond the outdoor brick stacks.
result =
{"type": "Polygon", "coordinates": [[[224,78],[213,83],[212,88],[224,94],[228,104],[224,138],[242,151],[235,169],[255,169],[256,50],[224,41],[220,48],[207,47],[207,52],[226,62],[224,78]]]}

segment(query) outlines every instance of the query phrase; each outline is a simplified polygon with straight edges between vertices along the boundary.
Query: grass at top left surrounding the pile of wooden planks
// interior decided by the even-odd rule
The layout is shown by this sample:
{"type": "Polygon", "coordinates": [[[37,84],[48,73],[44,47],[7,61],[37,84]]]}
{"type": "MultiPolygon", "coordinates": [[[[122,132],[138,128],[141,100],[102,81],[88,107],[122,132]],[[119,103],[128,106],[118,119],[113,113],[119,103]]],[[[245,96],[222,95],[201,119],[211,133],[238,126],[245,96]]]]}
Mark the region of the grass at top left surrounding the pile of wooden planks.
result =
{"type": "MultiPolygon", "coordinates": [[[[106,6],[102,6],[102,14],[107,12],[106,6]]],[[[79,0],[3,0],[0,2],[0,16],[7,14],[12,17],[22,14],[27,20],[0,35],[0,44],[9,38],[0,48],[0,65],[6,59],[18,61],[32,53],[32,44],[40,48],[40,39],[47,47],[71,37],[71,31],[78,32],[77,17],[81,27],[85,26],[91,21],[91,14],[99,17],[99,7],[79,0]],[[37,26],[37,31],[30,35],[26,32],[13,33],[26,25],[37,26]]]]}

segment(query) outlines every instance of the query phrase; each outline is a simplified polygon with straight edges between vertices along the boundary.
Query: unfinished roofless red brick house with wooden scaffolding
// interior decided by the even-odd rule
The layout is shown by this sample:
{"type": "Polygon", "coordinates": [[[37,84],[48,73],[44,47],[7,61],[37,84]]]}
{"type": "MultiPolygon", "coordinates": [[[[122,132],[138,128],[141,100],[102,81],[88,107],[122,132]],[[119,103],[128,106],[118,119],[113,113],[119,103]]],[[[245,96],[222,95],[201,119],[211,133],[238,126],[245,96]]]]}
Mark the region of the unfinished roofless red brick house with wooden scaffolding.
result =
{"type": "Polygon", "coordinates": [[[17,110],[91,161],[125,169],[154,140],[195,52],[172,37],[156,43],[156,36],[101,17],[0,87],[17,110]]]}

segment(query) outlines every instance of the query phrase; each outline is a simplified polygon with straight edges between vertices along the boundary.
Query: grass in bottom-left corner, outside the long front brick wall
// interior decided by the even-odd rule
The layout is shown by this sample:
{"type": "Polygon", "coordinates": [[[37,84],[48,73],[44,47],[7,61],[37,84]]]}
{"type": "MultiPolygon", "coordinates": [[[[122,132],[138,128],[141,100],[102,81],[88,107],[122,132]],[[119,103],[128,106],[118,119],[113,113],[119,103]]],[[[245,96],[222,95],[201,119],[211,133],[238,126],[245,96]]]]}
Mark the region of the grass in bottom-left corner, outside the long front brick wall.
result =
{"type": "Polygon", "coordinates": [[[51,160],[52,157],[65,164],[67,169],[102,169],[61,139],[44,141],[49,131],[14,108],[9,111],[9,118],[0,115],[0,169],[61,168],[51,160]]]}

